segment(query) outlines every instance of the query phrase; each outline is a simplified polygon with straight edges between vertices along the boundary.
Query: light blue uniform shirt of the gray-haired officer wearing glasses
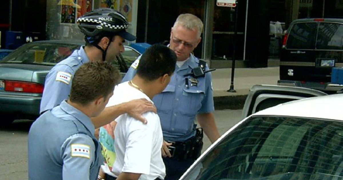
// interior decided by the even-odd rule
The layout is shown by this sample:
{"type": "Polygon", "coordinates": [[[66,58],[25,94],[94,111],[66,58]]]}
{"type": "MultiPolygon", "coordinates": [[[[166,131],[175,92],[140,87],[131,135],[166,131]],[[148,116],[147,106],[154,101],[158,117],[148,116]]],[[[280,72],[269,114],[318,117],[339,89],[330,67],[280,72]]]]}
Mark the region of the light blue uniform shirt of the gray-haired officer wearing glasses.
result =
{"type": "MultiPolygon", "coordinates": [[[[122,82],[133,78],[137,72],[139,59],[140,57],[132,63],[122,82]]],[[[196,115],[214,111],[211,72],[205,73],[205,77],[197,77],[196,86],[191,85],[189,81],[189,88],[186,87],[185,78],[190,80],[192,76],[184,75],[191,73],[192,68],[198,66],[199,59],[191,54],[180,68],[176,65],[167,87],[152,99],[161,119],[163,138],[166,141],[183,142],[194,136],[196,115]]],[[[206,65],[206,70],[208,69],[206,65]]]]}

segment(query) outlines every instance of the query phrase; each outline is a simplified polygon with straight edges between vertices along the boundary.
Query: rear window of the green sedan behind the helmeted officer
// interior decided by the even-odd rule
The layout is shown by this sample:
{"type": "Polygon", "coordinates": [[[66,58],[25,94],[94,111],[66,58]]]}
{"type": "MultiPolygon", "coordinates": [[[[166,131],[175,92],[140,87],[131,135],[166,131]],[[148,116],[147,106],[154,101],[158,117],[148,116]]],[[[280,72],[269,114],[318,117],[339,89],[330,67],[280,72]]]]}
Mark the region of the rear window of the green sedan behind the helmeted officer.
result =
{"type": "Polygon", "coordinates": [[[61,43],[29,43],[13,51],[0,63],[55,65],[67,58],[80,45],[61,43]]]}

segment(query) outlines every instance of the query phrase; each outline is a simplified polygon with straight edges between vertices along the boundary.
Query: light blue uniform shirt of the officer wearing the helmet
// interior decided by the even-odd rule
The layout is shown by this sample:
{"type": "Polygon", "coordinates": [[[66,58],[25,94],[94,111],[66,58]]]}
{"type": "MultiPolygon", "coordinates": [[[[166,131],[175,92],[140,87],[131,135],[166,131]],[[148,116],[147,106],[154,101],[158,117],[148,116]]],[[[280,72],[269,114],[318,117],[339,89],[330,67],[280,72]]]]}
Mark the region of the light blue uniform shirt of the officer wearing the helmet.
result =
{"type": "Polygon", "coordinates": [[[84,48],[75,50],[68,58],[57,63],[45,78],[40,110],[42,113],[59,105],[64,99],[68,99],[71,80],[75,71],[86,62],[89,62],[84,48]]]}

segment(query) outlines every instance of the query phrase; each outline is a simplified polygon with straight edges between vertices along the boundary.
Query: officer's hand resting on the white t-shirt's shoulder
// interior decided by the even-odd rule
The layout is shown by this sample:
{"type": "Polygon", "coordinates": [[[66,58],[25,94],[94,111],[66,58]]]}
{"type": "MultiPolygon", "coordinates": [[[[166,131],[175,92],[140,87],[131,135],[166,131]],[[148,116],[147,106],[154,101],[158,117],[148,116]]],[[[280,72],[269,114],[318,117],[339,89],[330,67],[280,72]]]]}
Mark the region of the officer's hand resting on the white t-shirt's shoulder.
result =
{"type": "Polygon", "coordinates": [[[128,107],[127,113],[131,117],[142,121],[144,124],[147,123],[147,120],[142,116],[144,112],[147,112],[147,111],[154,111],[155,113],[157,112],[155,105],[145,98],[131,100],[126,103],[126,106],[128,107]]]}

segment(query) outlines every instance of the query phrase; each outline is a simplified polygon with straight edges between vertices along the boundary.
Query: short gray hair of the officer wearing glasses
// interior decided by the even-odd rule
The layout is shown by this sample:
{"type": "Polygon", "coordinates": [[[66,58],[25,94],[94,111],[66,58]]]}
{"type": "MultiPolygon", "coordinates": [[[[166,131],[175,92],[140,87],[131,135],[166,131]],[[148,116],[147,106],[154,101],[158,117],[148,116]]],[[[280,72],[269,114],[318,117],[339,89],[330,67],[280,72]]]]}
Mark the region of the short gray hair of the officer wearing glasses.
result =
{"type": "Polygon", "coordinates": [[[180,25],[184,28],[190,29],[190,30],[194,30],[196,29],[198,31],[198,37],[200,37],[201,33],[202,33],[202,29],[204,27],[202,21],[199,19],[199,17],[193,15],[193,14],[180,14],[175,23],[173,28],[176,27],[176,25],[180,25]]]}

